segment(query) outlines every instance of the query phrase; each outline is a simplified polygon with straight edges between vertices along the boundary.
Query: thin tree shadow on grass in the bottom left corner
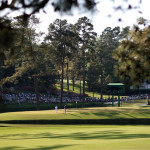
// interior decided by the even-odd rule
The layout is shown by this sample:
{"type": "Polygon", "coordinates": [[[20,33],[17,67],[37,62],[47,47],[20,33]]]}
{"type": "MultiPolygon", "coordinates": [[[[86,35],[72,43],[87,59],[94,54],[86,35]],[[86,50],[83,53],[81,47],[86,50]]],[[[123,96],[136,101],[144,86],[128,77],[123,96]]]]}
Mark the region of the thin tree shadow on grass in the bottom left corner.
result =
{"type": "Polygon", "coordinates": [[[0,148],[0,150],[55,150],[58,148],[64,148],[68,146],[73,146],[73,145],[39,146],[36,148],[24,148],[24,147],[18,147],[18,146],[10,146],[10,147],[0,148]]]}

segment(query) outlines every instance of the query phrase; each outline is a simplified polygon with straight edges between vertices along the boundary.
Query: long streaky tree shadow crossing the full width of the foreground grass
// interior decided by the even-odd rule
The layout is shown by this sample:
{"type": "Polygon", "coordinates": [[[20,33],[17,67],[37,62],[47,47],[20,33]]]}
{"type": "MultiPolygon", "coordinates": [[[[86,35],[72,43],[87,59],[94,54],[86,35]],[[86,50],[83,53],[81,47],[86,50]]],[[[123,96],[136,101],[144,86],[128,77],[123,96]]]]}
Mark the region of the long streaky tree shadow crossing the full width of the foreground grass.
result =
{"type": "Polygon", "coordinates": [[[71,134],[53,134],[50,132],[40,134],[7,134],[0,136],[0,139],[9,140],[25,140],[25,139],[73,139],[73,140],[94,140],[94,139],[138,139],[138,138],[150,138],[150,134],[127,134],[121,130],[111,131],[96,131],[96,132],[75,132],[71,134]]]}

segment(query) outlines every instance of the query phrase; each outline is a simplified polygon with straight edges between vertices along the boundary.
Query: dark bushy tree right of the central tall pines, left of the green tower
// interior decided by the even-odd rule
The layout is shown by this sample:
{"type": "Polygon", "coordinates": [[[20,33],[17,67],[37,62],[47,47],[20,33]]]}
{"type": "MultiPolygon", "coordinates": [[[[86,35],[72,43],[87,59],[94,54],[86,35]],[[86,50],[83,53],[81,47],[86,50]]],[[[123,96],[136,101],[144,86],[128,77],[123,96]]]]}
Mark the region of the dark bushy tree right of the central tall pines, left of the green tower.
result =
{"type": "MultiPolygon", "coordinates": [[[[92,84],[93,86],[95,85],[95,89],[100,89],[101,99],[103,98],[103,91],[106,91],[108,82],[116,82],[113,73],[116,62],[112,58],[112,54],[113,50],[118,46],[119,34],[119,27],[114,29],[107,27],[95,42],[95,51],[90,67],[94,68],[92,76],[95,77],[98,85],[93,84],[94,81],[92,81],[92,84]]],[[[90,83],[89,81],[91,82],[91,79],[88,78],[88,84],[90,83]]]]}

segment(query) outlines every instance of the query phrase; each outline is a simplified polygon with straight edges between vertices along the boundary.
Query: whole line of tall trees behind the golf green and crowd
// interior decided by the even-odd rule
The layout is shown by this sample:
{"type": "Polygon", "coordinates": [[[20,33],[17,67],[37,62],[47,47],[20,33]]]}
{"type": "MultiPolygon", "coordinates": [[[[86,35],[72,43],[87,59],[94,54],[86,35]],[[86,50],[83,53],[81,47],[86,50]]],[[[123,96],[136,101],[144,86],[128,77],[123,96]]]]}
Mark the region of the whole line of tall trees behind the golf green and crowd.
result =
{"type": "MultiPolygon", "coordinates": [[[[99,92],[101,98],[103,98],[103,93],[107,91],[107,84],[109,82],[120,82],[120,75],[128,77],[128,79],[123,78],[122,81],[136,80],[136,78],[132,78],[130,71],[128,71],[128,74],[126,70],[129,69],[131,60],[135,62],[135,65],[139,65],[136,63],[142,55],[139,55],[139,51],[137,51],[138,57],[135,59],[137,61],[133,59],[126,61],[127,59],[124,58],[125,56],[129,58],[136,55],[135,51],[134,55],[130,55],[131,47],[129,45],[135,46],[136,49],[137,35],[142,34],[143,37],[148,38],[145,31],[149,31],[148,26],[144,29],[136,26],[132,30],[129,27],[123,29],[107,27],[98,36],[94,32],[90,20],[87,17],[82,17],[75,24],[70,24],[67,20],[56,19],[53,23],[50,23],[48,33],[44,34],[36,32],[36,26],[40,25],[40,20],[35,15],[31,15],[26,20],[24,16],[18,16],[9,19],[9,22],[7,22],[7,18],[0,21],[5,22],[5,25],[8,26],[0,30],[1,87],[14,86],[14,84],[19,87],[25,85],[33,87],[34,85],[37,109],[39,109],[39,90],[55,90],[57,80],[61,80],[61,106],[64,93],[63,80],[67,79],[68,93],[69,80],[72,80],[73,87],[76,80],[80,81],[83,107],[85,84],[87,84],[88,90],[93,92],[93,95],[94,92],[99,92]],[[4,36],[6,34],[7,36],[4,36]],[[39,42],[41,36],[44,37],[44,40],[39,42]],[[130,40],[131,38],[133,39],[130,40]],[[129,43],[134,42],[134,40],[135,44],[129,43]],[[126,70],[124,69],[123,72],[121,68],[125,66],[126,70]],[[116,70],[117,75],[115,76],[114,71],[116,70]],[[81,81],[83,88],[81,88],[81,81]]],[[[145,20],[142,20],[141,24],[145,22],[145,20]]],[[[146,42],[148,40],[145,39],[146,42]]],[[[142,41],[138,45],[139,48],[143,46],[140,44],[143,44],[142,41]]],[[[147,58],[147,63],[148,61],[147,58]]],[[[143,64],[145,63],[143,58],[143,64]]],[[[133,66],[132,71],[134,71],[134,68],[136,67],[133,66]]],[[[140,78],[141,82],[144,77],[143,75],[143,78],[140,78]]]]}

